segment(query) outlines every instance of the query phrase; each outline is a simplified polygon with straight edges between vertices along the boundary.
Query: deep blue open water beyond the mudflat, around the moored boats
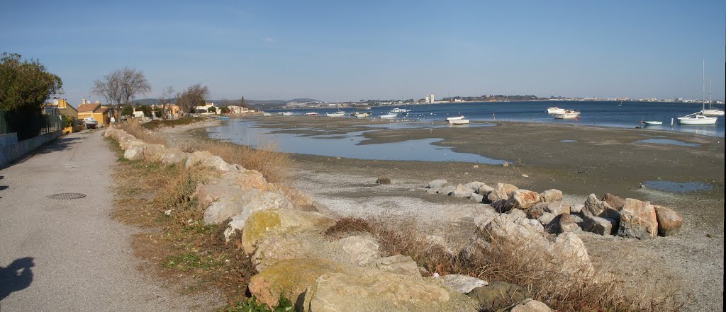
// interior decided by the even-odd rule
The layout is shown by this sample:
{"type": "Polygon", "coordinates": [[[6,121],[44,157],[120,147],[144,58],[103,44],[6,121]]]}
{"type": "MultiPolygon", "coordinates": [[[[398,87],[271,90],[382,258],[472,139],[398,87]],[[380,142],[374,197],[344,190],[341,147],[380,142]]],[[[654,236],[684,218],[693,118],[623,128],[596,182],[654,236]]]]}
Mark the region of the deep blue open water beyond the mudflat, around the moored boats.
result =
{"type": "MultiPolygon", "coordinates": [[[[422,119],[426,121],[441,121],[448,116],[464,115],[472,121],[534,121],[557,122],[578,125],[598,125],[605,127],[635,128],[640,120],[658,120],[663,125],[648,126],[647,129],[668,130],[674,132],[690,132],[700,135],[724,137],[724,117],[718,117],[716,125],[677,125],[676,117],[692,114],[701,110],[701,104],[685,103],[644,103],[644,102],[614,101],[538,101],[538,102],[494,102],[494,103],[461,103],[461,104],[431,104],[431,105],[400,105],[390,107],[373,107],[373,117],[378,117],[393,107],[412,110],[408,119],[422,119]],[[554,119],[547,114],[547,107],[558,106],[564,109],[576,109],[582,113],[579,119],[554,119]],[[494,114],[494,116],[492,115],[494,114]],[[671,127],[671,118],[674,125],[671,127]]],[[[718,106],[723,109],[723,106],[718,106]]],[[[282,109],[272,111],[293,111],[304,114],[317,111],[319,114],[336,111],[338,109],[282,109]]],[[[340,109],[351,113],[353,109],[340,109]]],[[[399,113],[399,118],[403,115],[399,113]]],[[[332,118],[332,117],[331,117],[332,118]]],[[[351,117],[354,118],[354,117],[351,117]]]]}

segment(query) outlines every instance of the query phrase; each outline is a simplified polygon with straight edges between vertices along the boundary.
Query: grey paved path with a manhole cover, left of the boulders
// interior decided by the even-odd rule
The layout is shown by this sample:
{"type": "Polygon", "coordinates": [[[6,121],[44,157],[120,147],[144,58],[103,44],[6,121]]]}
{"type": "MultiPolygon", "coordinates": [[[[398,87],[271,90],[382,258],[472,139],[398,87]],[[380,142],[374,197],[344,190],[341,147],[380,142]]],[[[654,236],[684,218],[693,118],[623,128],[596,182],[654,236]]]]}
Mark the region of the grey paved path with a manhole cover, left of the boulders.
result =
{"type": "Polygon", "coordinates": [[[134,227],[110,219],[114,162],[100,131],[80,132],[0,170],[0,311],[212,308],[136,269],[134,227]]]}

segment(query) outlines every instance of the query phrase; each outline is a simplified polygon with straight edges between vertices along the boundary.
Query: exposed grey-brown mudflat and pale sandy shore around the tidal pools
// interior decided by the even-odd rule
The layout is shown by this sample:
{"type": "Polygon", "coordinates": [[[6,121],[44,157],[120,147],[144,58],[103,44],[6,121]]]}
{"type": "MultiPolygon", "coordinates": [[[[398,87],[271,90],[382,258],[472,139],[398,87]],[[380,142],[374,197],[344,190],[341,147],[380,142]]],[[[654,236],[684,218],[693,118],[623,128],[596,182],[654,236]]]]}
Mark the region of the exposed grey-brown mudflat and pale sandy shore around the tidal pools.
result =
{"type": "MultiPolygon", "coordinates": [[[[344,134],[370,130],[380,120],[325,117],[251,117],[258,126],[282,132],[344,134]],[[298,130],[295,128],[306,128],[298,130]]],[[[205,137],[192,125],[163,130],[172,144],[205,137]],[[196,130],[192,130],[195,129],[196,130]],[[191,130],[191,131],[190,131],[191,130]]],[[[341,214],[386,214],[415,220],[422,229],[453,244],[469,237],[473,216],[487,205],[428,194],[426,182],[507,182],[529,190],[563,190],[566,201],[582,203],[590,193],[614,193],[674,208],[685,217],[679,235],[625,240],[582,233],[593,261],[626,280],[633,290],[658,285],[693,296],[691,311],[723,308],[724,140],[657,130],[500,122],[494,127],[376,130],[362,144],[443,138],[437,145],[515,161],[504,167],[461,162],[375,161],[291,154],[292,183],[341,214]],[[648,138],[700,146],[635,143],[648,138]],[[561,142],[560,140],[576,140],[561,142]],[[376,185],[385,174],[391,185],[376,185]],[[526,174],[527,177],[523,177],[526,174]],[[712,190],[674,193],[640,187],[644,181],[705,182],[712,190]]]]}

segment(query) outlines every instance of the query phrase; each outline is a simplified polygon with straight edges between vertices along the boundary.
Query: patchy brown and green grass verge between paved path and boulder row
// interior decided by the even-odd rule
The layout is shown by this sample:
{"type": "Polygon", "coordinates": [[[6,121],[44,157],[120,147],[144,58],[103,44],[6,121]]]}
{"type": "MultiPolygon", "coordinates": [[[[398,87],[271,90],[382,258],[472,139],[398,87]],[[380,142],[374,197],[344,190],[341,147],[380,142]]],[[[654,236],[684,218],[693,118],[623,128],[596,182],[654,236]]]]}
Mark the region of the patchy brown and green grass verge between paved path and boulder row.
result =
{"type": "MultiPolygon", "coordinates": [[[[118,144],[110,143],[122,155],[118,144]]],[[[197,183],[213,174],[199,166],[184,169],[120,157],[113,174],[113,217],[144,229],[134,237],[134,253],[157,264],[160,277],[184,285],[183,292],[213,287],[227,300],[240,300],[254,272],[252,263],[236,245],[224,243],[224,227],[203,224],[205,207],[192,198],[197,183]]]]}

